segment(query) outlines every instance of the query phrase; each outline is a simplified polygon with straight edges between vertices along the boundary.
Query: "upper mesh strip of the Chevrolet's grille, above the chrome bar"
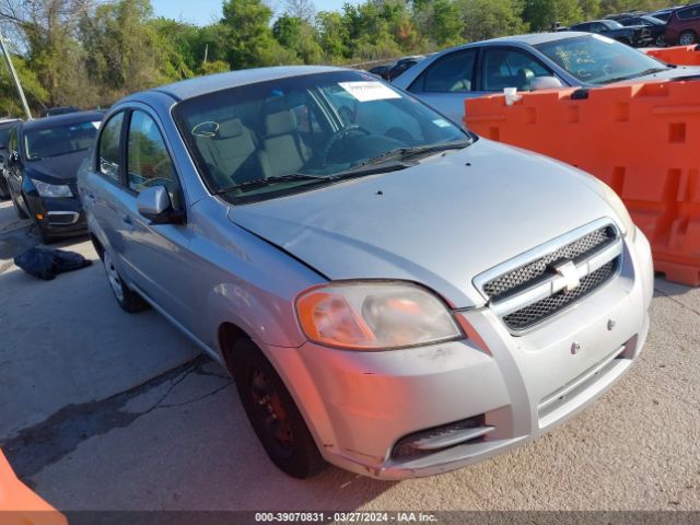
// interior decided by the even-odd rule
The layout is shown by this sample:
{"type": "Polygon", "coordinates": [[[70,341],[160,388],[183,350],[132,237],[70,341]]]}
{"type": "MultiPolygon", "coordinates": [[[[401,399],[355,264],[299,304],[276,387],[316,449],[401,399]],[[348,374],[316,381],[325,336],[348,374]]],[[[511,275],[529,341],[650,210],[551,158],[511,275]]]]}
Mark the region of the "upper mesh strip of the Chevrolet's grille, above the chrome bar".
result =
{"type": "Polygon", "coordinates": [[[552,262],[563,259],[585,259],[588,254],[614,241],[615,230],[604,226],[583,237],[551,252],[537,260],[523,265],[483,284],[483,291],[491,301],[498,300],[509,292],[517,292],[524,285],[545,276],[552,262]]]}

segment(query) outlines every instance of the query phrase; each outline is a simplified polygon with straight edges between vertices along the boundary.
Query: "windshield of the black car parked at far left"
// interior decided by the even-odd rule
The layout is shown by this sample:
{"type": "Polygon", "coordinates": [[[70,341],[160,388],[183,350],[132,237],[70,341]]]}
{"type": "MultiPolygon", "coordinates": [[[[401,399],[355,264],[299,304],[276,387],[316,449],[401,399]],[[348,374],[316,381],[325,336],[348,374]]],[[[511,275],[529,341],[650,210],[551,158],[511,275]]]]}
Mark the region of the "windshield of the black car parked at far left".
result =
{"type": "Polygon", "coordinates": [[[24,141],[30,161],[66,155],[92,145],[100,121],[56,124],[50,128],[28,129],[24,141]]]}

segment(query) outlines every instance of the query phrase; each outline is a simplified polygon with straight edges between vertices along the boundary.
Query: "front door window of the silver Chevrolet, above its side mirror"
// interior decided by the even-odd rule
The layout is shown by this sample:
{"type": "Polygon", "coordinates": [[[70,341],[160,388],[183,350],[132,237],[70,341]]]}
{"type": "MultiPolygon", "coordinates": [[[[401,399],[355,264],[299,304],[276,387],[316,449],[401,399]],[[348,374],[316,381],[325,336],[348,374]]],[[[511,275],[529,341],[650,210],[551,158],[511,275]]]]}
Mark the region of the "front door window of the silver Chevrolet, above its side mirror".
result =
{"type": "Polygon", "coordinates": [[[138,109],[129,124],[127,174],[129,189],[139,194],[151,186],[165,186],[175,202],[177,178],[165,141],[155,120],[138,109]]]}

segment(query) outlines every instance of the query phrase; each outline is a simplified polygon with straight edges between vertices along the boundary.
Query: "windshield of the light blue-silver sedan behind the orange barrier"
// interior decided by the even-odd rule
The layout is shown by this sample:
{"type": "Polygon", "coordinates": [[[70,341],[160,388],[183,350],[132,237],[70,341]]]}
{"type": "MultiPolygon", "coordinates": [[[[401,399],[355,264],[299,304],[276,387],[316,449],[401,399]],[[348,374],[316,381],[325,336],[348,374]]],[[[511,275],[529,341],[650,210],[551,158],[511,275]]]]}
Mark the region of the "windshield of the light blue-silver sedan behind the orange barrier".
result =
{"type": "Polygon", "coordinates": [[[562,38],[535,47],[590,84],[608,84],[668,69],[658,60],[600,35],[562,38]]]}

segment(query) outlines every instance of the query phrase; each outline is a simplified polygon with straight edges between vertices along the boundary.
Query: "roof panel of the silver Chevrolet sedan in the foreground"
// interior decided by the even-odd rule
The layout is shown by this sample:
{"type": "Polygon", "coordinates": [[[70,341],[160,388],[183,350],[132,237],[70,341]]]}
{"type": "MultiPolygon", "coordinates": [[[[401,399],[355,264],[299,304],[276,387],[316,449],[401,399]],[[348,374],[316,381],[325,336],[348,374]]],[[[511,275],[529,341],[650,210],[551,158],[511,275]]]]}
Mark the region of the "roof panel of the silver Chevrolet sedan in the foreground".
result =
{"type": "MultiPolygon", "coordinates": [[[[332,68],[327,66],[282,66],[272,68],[255,68],[243,69],[240,71],[230,71],[226,73],[209,74],[206,77],[197,77],[195,79],[183,80],[173,84],[162,85],[153,90],[142,92],[160,92],[170,95],[175,100],[191,98],[194,96],[203,95],[214,91],[221,91],[229,88],[237,88],[245,84],[254,84],[268,80],[285,79],[290,77],[301,77],[305,74],[325,73],[329,71],[340,71],[342,68],[332,68]]],[[[128,98],[139,98],[139,94],[131,95],[128,98]]]]}

